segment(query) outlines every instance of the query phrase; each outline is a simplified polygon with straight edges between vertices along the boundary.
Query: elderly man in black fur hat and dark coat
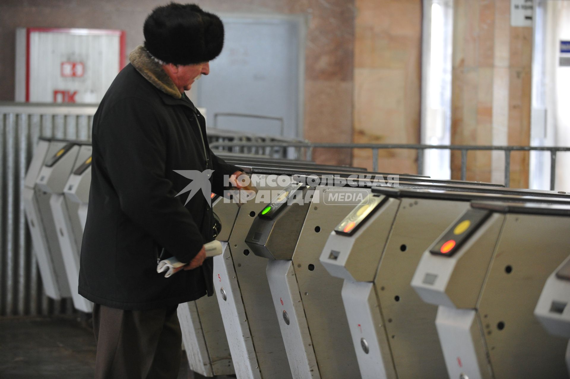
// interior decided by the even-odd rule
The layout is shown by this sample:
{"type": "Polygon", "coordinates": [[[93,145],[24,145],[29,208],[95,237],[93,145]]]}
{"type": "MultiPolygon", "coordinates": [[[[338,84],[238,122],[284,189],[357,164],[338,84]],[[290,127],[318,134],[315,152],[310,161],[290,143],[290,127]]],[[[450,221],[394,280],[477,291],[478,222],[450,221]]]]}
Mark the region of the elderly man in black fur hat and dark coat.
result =
{"type": "Polygon", "coordinates": [[[223,25],[197,5],[160,6],[144,23],[144,46],[109,87],[93,119],[93,164],[79,294],[93,301],[96,378],[176,378],[178,304],[213,294],[213,214],[202,191],[177,197],[209,175],[214,193],[239,174],[209,149],[205,119],[184,91],[210,72],[223,25]],[[170,278],[157,260],[188,262],[170,278]]]}

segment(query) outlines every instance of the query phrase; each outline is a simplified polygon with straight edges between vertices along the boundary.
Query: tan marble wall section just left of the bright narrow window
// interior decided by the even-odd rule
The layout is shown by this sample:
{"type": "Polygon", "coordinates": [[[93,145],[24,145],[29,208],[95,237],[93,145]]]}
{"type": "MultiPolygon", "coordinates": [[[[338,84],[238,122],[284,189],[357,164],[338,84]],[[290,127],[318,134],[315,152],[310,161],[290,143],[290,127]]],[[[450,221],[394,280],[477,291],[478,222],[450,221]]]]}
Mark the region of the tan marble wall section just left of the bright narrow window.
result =
{"type": "MultiPolygon", "coordinates": [[[[354,132],[358,143],[420,142],[420,0],[356,0],[354,132]]],[[[378,169],[416,173],[416,152],[380,150],[378,169]]],[[[372,152],[353,164],[372,168],[372,152]]]]}

